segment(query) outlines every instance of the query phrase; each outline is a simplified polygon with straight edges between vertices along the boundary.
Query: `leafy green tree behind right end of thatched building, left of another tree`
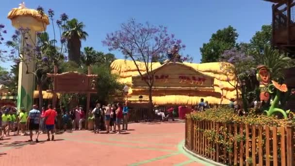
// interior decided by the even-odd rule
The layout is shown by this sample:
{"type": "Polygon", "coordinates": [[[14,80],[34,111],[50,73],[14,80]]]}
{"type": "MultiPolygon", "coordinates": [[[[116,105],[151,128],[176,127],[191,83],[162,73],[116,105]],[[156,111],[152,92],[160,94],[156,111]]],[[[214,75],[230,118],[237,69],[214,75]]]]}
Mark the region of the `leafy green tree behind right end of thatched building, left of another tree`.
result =
{"type": "Polygon", "coordinates": [[[238,36],[236,29],[232,26],[213,33],[209,42],[203,43],[203,47],[200,48],[201,62],[217,62],[225,50],[235,47],[238,36]]]}

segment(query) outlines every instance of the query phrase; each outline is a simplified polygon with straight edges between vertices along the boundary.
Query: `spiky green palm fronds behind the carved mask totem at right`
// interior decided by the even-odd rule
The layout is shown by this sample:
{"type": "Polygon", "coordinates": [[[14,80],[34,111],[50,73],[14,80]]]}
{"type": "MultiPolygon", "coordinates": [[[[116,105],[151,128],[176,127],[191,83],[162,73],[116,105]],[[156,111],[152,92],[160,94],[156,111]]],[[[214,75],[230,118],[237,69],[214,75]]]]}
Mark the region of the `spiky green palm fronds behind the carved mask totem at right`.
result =
{"type": "Polygon", "coordinates": [[[253,57],[257,65],[264,65],[269,69],[271,78],[275,80],[283,79],[284,69],[294,65],[291,58],[269,45],[265,45],[262,52],[254,53],[253,57]]]}

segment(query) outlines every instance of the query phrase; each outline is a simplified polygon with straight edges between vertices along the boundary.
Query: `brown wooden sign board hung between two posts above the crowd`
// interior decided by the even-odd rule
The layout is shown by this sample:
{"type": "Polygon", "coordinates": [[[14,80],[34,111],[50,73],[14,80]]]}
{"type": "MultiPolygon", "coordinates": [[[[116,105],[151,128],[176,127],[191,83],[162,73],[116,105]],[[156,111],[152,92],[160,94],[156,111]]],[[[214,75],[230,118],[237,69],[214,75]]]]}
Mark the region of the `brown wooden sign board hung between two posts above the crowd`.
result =
{"type": "MultiPolygon", "coordinates": [[[[88,112],[90,108],[90,95],[97,93],[96,79],[98,75],[91,74],[90,67],[88,67],[88,74],[70,71],[66,73],[57,73],[57,66],[54,66],[54,73],[47,73],[47,77],[53,78],[53,89],[49,92],[53,93],[52,107],[56,106],[57,93],[79,93],[87,95],[86,104],[86,123],[88,119],[88,112]]],[[[87,125],[86,125],[87,126],[87,125]]]]}

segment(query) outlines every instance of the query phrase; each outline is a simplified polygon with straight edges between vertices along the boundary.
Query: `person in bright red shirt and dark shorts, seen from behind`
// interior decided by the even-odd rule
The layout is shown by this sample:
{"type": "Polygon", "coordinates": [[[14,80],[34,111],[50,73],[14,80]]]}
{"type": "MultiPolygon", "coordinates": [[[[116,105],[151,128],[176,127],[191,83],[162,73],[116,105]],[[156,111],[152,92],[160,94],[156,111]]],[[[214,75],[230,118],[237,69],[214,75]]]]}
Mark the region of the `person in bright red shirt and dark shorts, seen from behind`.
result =
{"type": "Polygon", "coordinates": [[[52,105],[48,105],[48,110],[45,111],[45,124],[46,124],[46,129],[47,129],[47,136],[48,139],[47,141],[50,141],[49,139],[49,131],[51,132],[51,141],[54,140],[54,120],[55,117],[57,116],[56,111],[52,110],[52,105]]]}

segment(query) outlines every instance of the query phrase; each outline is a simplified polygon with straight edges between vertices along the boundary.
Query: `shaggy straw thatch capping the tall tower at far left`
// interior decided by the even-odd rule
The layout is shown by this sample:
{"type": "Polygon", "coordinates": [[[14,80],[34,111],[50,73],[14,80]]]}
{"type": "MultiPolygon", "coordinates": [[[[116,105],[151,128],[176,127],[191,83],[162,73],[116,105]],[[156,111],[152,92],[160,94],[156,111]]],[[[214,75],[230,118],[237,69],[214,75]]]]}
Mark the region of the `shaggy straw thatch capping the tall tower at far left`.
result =
{"type": "Polygon", "coordinates": [[[7,18],[14,19],[19,16],[31,16],[37,19],[40,22],[44,22],[46,25],[49,25],[49,18],[47,15],[41,16],[39,12],[35,9],[28,8],[13,8],[9,13],[7,18]]]}

